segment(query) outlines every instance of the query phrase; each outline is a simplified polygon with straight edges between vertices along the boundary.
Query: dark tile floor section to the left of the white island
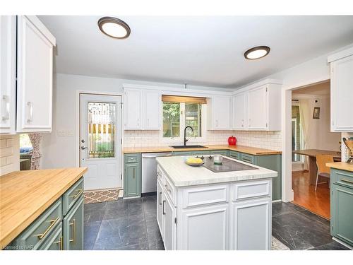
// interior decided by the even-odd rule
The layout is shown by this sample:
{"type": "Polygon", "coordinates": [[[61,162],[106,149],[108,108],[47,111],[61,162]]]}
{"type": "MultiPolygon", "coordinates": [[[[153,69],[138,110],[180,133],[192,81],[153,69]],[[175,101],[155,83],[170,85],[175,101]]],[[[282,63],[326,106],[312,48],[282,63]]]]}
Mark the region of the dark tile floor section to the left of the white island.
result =
{"type": "Polygon", "coordinates": [[[84,249],[164,249],[156,197],[85,204],[84,249]]]}

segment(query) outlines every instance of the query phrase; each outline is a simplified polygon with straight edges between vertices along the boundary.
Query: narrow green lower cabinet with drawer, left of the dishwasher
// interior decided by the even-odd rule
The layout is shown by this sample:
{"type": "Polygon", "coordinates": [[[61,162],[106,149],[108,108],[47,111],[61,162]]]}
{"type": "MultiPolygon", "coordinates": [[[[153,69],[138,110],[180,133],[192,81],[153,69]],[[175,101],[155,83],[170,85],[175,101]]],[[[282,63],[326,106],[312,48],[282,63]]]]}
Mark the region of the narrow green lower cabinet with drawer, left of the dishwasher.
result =
{"type": "Polygon", "coordinates": [[[124,155],[124,197],[141,196],[141,154],[124,155]],[[133,157],[133,162],[130,162],[133,157]]]}

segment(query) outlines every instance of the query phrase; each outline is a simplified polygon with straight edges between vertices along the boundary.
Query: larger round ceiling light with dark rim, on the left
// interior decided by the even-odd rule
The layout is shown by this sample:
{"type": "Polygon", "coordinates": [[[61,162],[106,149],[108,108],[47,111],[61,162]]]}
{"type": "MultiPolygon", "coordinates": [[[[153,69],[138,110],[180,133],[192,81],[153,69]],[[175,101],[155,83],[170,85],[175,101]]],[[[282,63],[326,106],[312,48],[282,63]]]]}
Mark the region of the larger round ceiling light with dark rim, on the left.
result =
{"type": "Polygon", "coordinates": [[[125,39],[131,33],[130,27],[123,20],[113,18],[111,16],[104,16],[98,20],[98,27],[100,31],[114,39],[125,39]]]}

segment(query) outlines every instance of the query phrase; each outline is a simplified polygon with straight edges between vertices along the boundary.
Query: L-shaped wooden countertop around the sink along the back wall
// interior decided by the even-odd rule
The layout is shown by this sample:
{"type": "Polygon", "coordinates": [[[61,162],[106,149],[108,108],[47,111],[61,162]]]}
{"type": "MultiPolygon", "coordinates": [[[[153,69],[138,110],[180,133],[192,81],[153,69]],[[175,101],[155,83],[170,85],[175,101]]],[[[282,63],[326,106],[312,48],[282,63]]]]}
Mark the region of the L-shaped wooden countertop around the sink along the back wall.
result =
{"type": "Polygon", "coordinates": [[[158,153],[158,152],[181,152],[181,151],[208,151],[208,150],[232,150],[241,153],[249,153],[251,155],[276,155],[281,154],[282,151],[275,151],[264,148],[256,148],[250,146],[227,146],[227,145],[213,145],[205,146],[207,148],[172,148],[170,146],[156,146],[156,147],[126,147],[123,148],[123,153],[158,153]]]}

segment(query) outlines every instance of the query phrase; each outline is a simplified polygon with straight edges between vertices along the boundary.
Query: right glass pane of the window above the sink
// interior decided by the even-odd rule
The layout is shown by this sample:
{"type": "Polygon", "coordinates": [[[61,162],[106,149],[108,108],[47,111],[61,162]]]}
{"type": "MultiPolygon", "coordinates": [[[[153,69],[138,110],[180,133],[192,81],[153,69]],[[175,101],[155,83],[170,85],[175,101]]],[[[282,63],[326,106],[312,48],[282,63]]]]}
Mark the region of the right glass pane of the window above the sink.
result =
{"type": "Polygon", "coordinates": [[[186,137],[201,137],[201,104],[185,103],[185,126],[191,126],[186,130],[186,137]]]}

